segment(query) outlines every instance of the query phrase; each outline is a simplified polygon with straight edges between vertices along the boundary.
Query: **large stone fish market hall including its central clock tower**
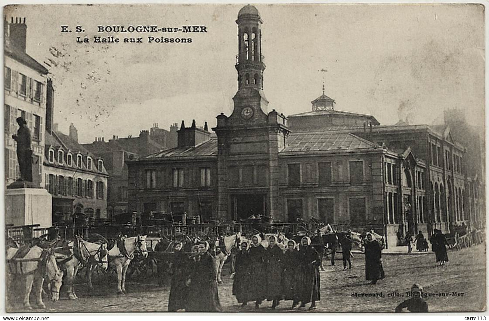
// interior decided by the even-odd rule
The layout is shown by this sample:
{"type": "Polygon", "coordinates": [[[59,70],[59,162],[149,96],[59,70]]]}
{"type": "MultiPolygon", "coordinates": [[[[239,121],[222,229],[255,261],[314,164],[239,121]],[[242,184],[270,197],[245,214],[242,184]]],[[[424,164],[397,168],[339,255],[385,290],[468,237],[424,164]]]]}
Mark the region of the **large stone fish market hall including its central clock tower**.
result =
{"type": "Polygon", "coordinates": [[[335,110],[324,90],[310,112],[269,111],[260,14],[246,5],[236,23],[232,114],[217,116],[214,133],[182,121],[177,147],[128,161],[130,211],[203,222],[315,217],[386,233],[388,246],[397,245],[398,230],[485,224],[484,184],[467,173],[467,151],[449,127],[380,126],[372,115],[335,110]]]}

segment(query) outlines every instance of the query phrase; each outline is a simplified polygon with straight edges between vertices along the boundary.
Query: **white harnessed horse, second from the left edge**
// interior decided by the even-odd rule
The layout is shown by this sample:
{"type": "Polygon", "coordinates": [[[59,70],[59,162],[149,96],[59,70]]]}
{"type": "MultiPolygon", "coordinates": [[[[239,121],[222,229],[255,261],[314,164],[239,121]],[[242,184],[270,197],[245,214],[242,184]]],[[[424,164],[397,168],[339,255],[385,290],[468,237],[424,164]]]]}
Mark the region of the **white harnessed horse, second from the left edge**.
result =
{"type": "MultiPolygon", "coordinates": [[[[66,246],[62,246],[60,248],[55,248],[55,251],[58,251],[59,254],[64,254],[65,259],[62,260],[60,263],[60,267],[66,271],[66,279],[65,279],[65,285],[67,287],[67,293],[68,293],[68,298],[70,300],[76,300],[78,297],[76,296],[75,293],[75,288],[73,287],[73,281],[75,278],[75,275],[77,275],[78,271],[82,269],[83,267],[87,266],[88,272],[88,286],[90,291],[93,290],[93,284],[91,281],[91,275],[92,275],[92,270],[96,267],[101,268],[104,271],[107,271],[108,268],[108,251],[107,251],[107,244],[102,243],[91,243],[87,242],[83,239],[79,239],[80,245],[82,246],[81,252],[88,252],[87,256],[89,257],[79,257],[79,255],[74,255],[73,253],[73,246],[74,242],[69,241],[66,243],[66,246]],[[68,250],[69,254],[64,252],[63,250],[68,250]],[[80,260],[83,262],[80,262],[80,260]]],[[[83,255],[82,255],[83,256],[83,255]]]]}

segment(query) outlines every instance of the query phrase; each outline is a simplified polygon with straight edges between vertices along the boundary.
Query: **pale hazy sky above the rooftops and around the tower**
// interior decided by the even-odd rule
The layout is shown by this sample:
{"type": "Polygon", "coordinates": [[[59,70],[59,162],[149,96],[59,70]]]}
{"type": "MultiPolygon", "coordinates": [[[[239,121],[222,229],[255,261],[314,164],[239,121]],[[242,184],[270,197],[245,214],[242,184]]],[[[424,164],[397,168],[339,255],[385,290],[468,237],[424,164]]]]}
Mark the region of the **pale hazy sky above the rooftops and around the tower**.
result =
{"type": "MultiPolygon", "coordinates": [[[[80,142],[138,136],[157,123],[216,125],[237,91],[237,24],[243,4],[17,5],[27,53],[55,86],[54,122],[80,142]],[[71,33],[62,33],[68,25],[71,33]],[[76,33],[81,25],[84,32],[76,33]],[[204,25],[207,33],[97,33],[97,26],[204,25]],[[76,37],[143,37],[142,44],[77,43],[76,37]],[[192,38],[147,43],[148,36],[192,38]]],[[[443,123],[445,109],[484,126],[484,11],[474,4],[256,5],[263,20],[268,111],[311,110],[324,79],[335,109],[383,124],[443,123]],[[326,70],[326,71],[319,71],[326,70]]],[[[121,40],[122,41],[122,40],[121,40]]]]}

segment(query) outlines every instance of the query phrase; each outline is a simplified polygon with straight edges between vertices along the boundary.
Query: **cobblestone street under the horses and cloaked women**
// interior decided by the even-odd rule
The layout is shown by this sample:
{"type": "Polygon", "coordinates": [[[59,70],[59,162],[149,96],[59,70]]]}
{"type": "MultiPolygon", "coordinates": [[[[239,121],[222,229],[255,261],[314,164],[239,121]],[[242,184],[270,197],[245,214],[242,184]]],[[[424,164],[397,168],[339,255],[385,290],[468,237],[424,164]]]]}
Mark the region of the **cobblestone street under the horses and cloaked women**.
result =
{"type": "MultiPolygon", "coordinates": [[[[355,254],[354,268],[342,271],[341,254],[336,265],[325,259],[326,272],[321,272],[321,301],[315,312],[393,312],[406,299],[413,283],[424,287],[430,312],[481,311],[485,308],[485,247],[475,246],[461,251],[449,251],[450,261],[445,266],[435,263],[432,252],[419,255],[383,255],[386,278],[377,285],[365,281],[363,254],[355,254]],[[396,294],[397,293],[397,294],[396,294]],[[379,294],[372,297],[372,294],[379,294]],[[364,297],[362,295],[371,295],[364,297]],[[440,296],[441,295],[441,296],[440,296]],[[399,296],[399,297],[398,297],[399,296]],[[404,297],[401,297],[404,296],[404,297]]],[[[219,286],[219,296],[225,312],[272,312],[271,302],[265,301],[259,310],[250,306],[241,309],[231,294],[232,280],[226,264],[223,271],[224,284],[219,286]]],[[[96,281],[95,294],[89,296],[87,286],[77,286],[76,301],[63,297],[53,303],[45,300],[45,312],[164,312],[167,311],[169,284],[157,287],[153,277],[144,282],[126,282],[128,294],[117,295],[115,280],[101,283],[96,281]]],[[[276,312],[290,310],[290,301],[282,301],[276,312]]],[[[17,309],[16,309],[17,310],[17,309]]],[[[19,311],[19,310],[17,310],[19,311]]],[[[41,311],[41,310],[33,310],[41,311]]]]}

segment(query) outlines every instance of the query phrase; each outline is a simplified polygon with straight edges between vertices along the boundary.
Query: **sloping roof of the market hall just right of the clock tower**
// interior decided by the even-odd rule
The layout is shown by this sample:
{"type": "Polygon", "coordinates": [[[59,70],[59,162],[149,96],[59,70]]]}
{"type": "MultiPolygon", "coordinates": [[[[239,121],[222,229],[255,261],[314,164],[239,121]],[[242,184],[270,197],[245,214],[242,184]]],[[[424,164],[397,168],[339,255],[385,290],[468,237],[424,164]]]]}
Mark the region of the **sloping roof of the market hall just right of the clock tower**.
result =
{"type": "Polygon", "coordinates": [[[290,134],[287,147],[281,153],[370,149],[374,146],[373,142],[351,133],[302,132],[290,134]]]}

